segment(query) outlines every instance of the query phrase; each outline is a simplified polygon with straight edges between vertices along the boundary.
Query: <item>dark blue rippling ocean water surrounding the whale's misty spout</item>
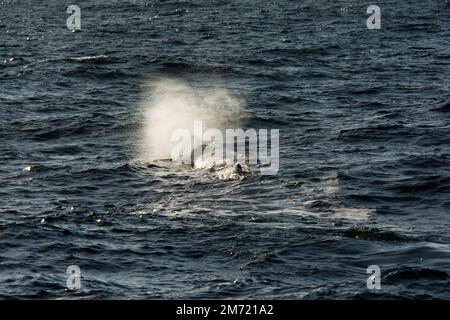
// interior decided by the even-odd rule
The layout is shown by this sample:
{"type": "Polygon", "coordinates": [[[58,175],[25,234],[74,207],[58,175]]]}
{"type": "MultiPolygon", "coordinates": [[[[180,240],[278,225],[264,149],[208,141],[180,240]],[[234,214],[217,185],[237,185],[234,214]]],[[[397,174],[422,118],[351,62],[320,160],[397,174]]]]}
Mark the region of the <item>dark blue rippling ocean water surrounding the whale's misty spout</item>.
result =
{"type": "Polygon", "coordinates": [[[450,298],[450,2],[372,2],[2,0],[0,298],[450,298]],[[278,174],[148,160],[161,79],[245,101],[278,174]]]}

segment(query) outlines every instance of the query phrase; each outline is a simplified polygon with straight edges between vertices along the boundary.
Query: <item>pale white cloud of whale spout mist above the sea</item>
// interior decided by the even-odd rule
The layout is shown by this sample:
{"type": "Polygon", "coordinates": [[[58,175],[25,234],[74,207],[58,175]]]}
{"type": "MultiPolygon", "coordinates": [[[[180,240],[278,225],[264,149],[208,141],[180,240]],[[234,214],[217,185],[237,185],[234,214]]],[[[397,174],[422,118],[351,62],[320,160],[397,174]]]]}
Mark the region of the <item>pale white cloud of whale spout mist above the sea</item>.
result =
{"type": "MultiPolygon", "coordinates": [[[[143,134],[141,156],[146,161],[170,159],[175,142],[172,133],[184,129],[194,135],[194,122],[203,130],[240,128],[246,114],[244,101],[231,91],[209,87],[194,88],[177,79],[159,79],[149,83],[150,99],[142,103],[143,134]]],[[[194,145],[194,144],[193,144],[194,145]]]]}

